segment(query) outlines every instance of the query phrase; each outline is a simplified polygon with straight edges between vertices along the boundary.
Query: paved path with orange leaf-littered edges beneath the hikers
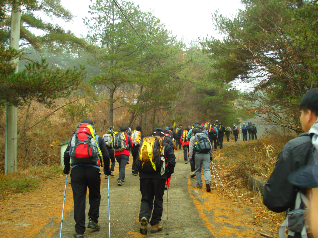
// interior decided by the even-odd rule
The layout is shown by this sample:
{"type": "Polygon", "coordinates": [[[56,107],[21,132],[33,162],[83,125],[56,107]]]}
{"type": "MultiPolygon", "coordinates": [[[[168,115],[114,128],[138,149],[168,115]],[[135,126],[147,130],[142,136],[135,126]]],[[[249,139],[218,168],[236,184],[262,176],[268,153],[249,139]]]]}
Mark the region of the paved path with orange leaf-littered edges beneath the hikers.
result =
{"type": "MultiPolygon", "coordinates": [[[[242,141],[235,143],[240,148],[242,141]]],[[[250,142],[245,142],[250,143],[250,142]]],[[[277,237],[278,221],[259,205],[257,195],[237,181],[241,187],[234,187],[232,177],[228,176],[232,167],[225,162],[223,153],[233,148],[234,143],[225,142],[223,149],[213,153],[213,164],[225,188],[216,177],[215,186],[211,171],[211,192],[196,187],[196,180],[190,178],[190,163],[185,164],[183,151],[176,154],[175,174],[172,175],[168,190],[168,233],[166,234],[166,193],[163,197],[163,230],[156,234],[149,232],[147,237],[261,237],[266,233],[277,237]],[[178,155],[179,154],[179,155],[178,155]]],[[[131,173],[132,159],[126,166],[126,181],[117,186],[118,164],[115,177],[109,179],[111,237],[146,237],[139,233],[139,209],[141,194],[139,176],[131,173]]],[[[102,171],[102,170],[101,170],[102,171]]],[[[46,180],[34,191],[13,194],[6,201],[0,202],[0,234],[3,237],[59,237],[63,195],[66,175],[59,175],[46,180]]],[[[203,179],[203,176],[202,176],[203,179]]],[[[204,180],[204,179],[203,179],[204,180]]],[[[204,183],[204,181],[203,181],[204,183]]],[[[101,172],[101,229],[86,229],[86,237],[108,237],[108,199],[107,180],[101,172]]],[[[89,202],[86,197],[86,214],[89,202]]],[[[86,217],[86,224],[88,218],[86,217]]],[[[149,229],[150,229],[149,225],[149,229]]],[[[62,237],[73,237],[73,195],[71,185],[67,182],[66,200],[63,219],[62,237]]]]}

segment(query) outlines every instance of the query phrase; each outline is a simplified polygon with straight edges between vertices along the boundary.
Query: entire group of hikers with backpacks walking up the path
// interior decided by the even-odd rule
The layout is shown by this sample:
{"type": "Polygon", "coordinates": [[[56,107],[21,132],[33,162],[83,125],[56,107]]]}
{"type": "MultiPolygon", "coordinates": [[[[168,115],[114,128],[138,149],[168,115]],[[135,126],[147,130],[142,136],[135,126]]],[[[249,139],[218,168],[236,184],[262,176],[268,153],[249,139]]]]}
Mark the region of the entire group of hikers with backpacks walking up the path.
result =
{"type": "MultiPolygon", "coordinates": [[[[315,165],[318,161],[318,89],[311,89],[306,93],[301,100],[300,109],[300,122],[305,133],[284,146],[278,156],[273,174],[265,185],[263,196],[263,202],[270,210],[283,212],[289,209],[287,219],[279,229],[279,238],[285,237],[285,227],[289,229],[288,237],[307,237],[308,228],[310,226],[313,228],[313,225],[305,219],[309,208],[308,200],[316,201],[314,206],[316,209],[318,207],[318,192],[311,189],[318,187],[316,172],[318,165],[315,165]]],[[[254,136],[257,139],[255,124],[243,123],[241,130],[244,141],[247,140],[247,133],[249,138],[252,135],[252,140],[254,136]]],[[[142,133],[141,126],[137,126],[134,131],[127,126],[121,126],[119,132],[114,132],[110,128],[102,138],[96,135],[91,120],[82,121],[74,131],[64,153],[64,173],[68,174],[71,170],[72,176],[76,222],[73,235],[77,238],[84,237],[87,187],[90,204],[87,228],[100,229],[98,218],[102,162],[105,179],[108,179],[108,176],[115,176],[113,173],[115,160],[118,162],[117,184],[122,186],[126,179],[125,169],[129,164],[129,155],[132,154],[132,173],[139,175],[142,195],[139,212],[140,233],[147,234],[148,224],[151,225],[151,233],[156,233],[162,230],[160,221],[163,211],[163,194],[164,190],[169,188],[169,179],[174,173],[176,165],[174,150],[183,147],[184,161],[187,164],[189,159],[190,177],[196,177],[198,188],[203,186],[201,175],[203,169],[206,191],[210,192],[210,163],[213,166],[212,144],[214,142],[214,149],[217,149],[217,143],[222,149],[223,136],[225,134],[229,141],[230,133],[234,134],[237,141],[239,128],[236,124],[233,128],[224,127],[216,120],[214,124],[197,121],[185,129],[182,124],[179,124],[175,130],[173,127],[156,128],[149,136],[142,133]]],[[[317,213],[313,213],[313,210],[310,217],[312,214],[317,217],[317,213]]],[[[311,222],[314,221],[311,220],[311,222]]]]}

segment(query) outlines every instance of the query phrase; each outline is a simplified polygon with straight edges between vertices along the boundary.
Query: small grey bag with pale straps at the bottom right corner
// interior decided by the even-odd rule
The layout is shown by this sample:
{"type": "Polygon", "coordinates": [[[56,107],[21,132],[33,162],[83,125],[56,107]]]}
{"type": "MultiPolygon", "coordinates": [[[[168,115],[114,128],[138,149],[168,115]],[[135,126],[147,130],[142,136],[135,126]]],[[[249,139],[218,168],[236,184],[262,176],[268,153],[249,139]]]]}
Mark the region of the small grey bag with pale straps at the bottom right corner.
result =
{"type": "Polygon", "coordinates": [[[278,228],[278,238],[285,238],[286,228],[288,235],[294,236],[295,233],[301,233],[302,238],[307,238],[306,229],[309,228],[307,224],[306,216],[309,215],[310,202],[307,197],[298,191],[295,201],[295,209],[288,212],[287,218],[281,223],[278,228]],[[301,201],[306,205],[307,208],[300,208],[301,201]]]}

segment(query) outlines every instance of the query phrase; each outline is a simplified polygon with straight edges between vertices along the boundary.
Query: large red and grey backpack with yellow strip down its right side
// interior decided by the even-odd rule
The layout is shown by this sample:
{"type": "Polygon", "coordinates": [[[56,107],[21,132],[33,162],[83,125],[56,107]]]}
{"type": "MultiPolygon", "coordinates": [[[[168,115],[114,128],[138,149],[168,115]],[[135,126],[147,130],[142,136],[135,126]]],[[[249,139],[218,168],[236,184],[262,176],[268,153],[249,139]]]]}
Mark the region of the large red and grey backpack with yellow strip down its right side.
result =
{"type": "MultiPolygon", "coordinates": [[[[96,135],[97,140],[98,136],[96,135]]],[[[80,123],[74,131],[69,154],[72,163],[89,163],[99,165],[98,155],[102,157],[95,137],[95,128],[88,123],[80,123]]]]}

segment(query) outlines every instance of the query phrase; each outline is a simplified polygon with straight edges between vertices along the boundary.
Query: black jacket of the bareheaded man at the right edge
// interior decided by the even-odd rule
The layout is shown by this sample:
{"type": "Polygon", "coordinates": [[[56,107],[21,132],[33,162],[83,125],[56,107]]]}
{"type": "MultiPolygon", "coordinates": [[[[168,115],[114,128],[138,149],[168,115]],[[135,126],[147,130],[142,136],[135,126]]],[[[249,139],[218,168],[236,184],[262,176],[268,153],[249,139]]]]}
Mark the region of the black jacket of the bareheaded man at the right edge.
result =
{"type": "Polygon", "coordinates": [[[263,203],[273,212],[293,210],[298,188],[288,182],[288,175],[312,160],[311,136],[303,133],[287,142],[278,155],[272,175],[265,184],[263,203]]]}

